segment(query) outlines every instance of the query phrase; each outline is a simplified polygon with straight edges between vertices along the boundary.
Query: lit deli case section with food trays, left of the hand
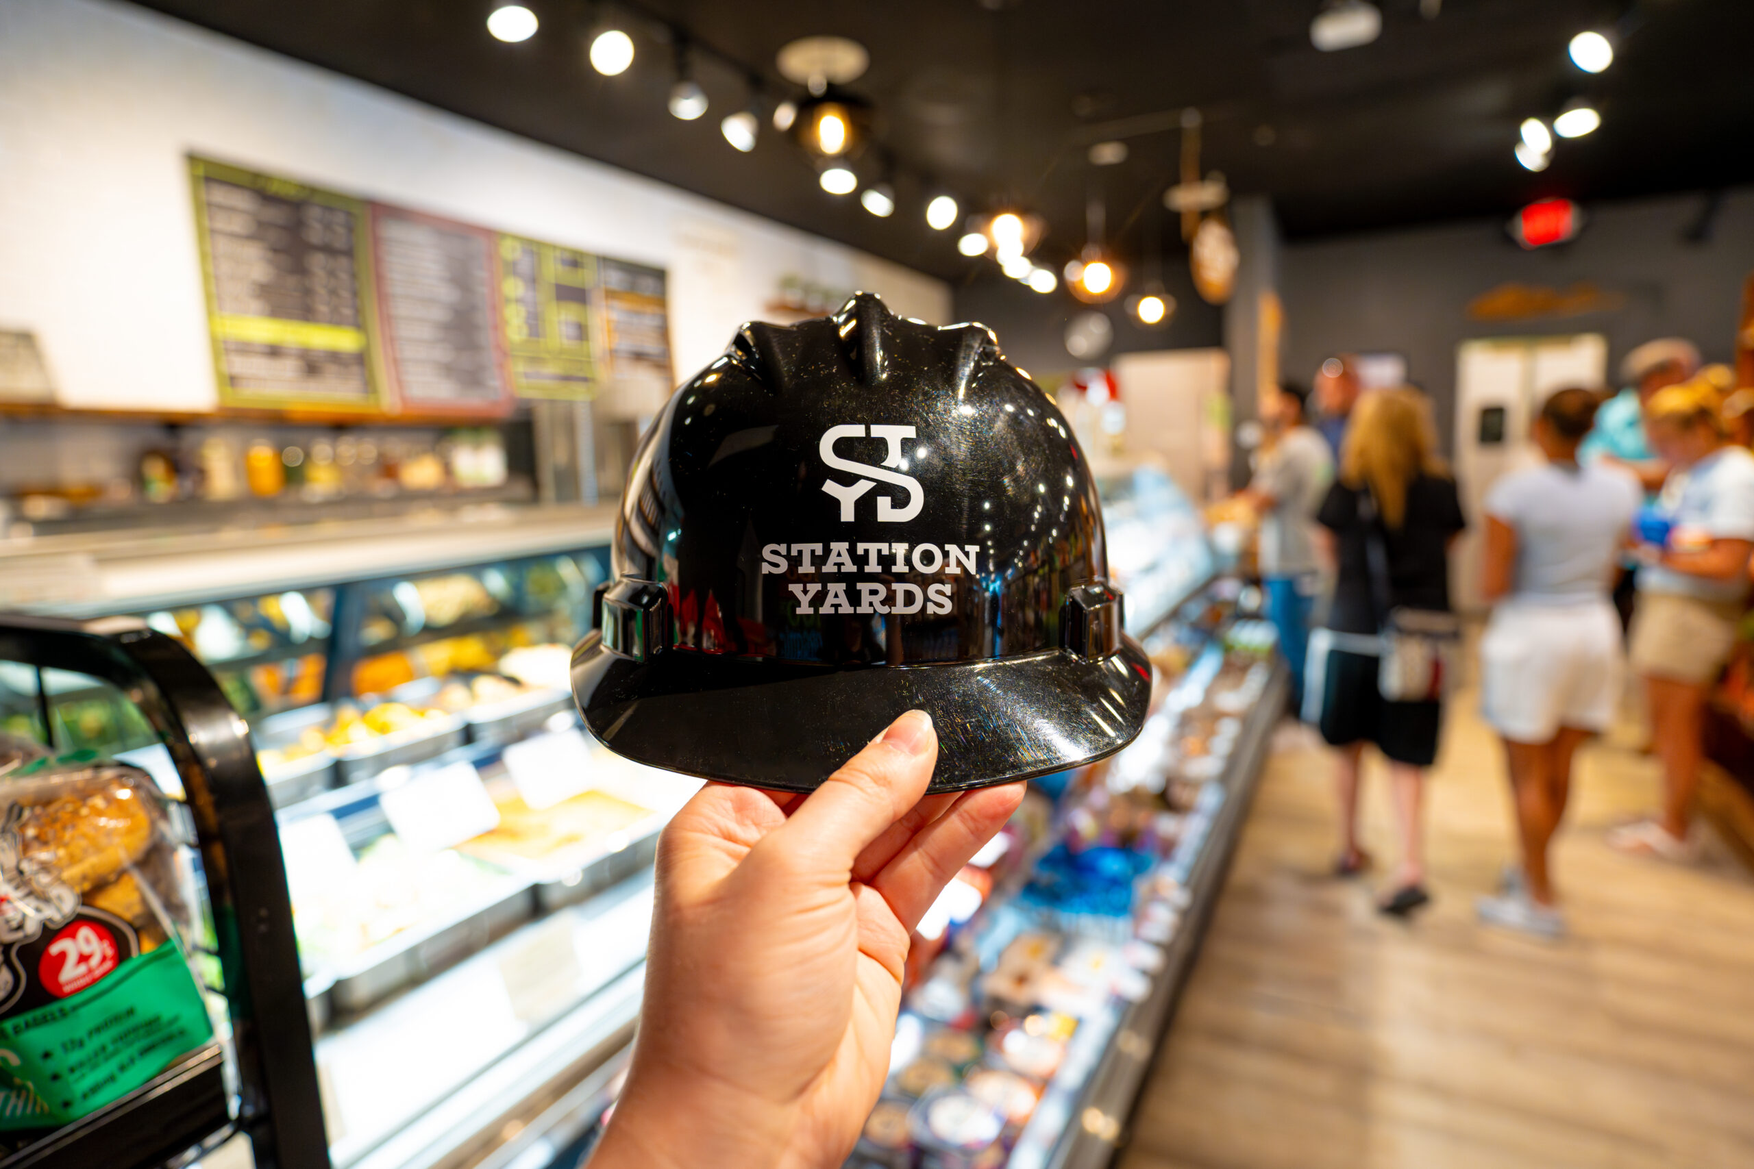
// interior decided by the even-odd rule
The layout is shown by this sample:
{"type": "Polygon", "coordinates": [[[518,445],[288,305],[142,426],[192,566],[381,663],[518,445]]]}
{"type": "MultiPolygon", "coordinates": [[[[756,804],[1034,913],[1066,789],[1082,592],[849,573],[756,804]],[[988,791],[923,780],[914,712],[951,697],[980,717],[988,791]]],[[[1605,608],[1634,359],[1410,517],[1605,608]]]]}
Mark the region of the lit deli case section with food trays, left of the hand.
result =
{"type": "MultiPolygon", "coordinates": [[[[602,752],[572,703],[612,521],[39,540],[0,566],[14,605],[174,638],[247,719],[337,1169],[528,1148],[631,1034],[656,832],[698,783],[602,752]],[[70,568],[67,599],[46,582],[70,568]]],[[[7,670],[0,724],[181,790],[125,694],[7,670]]]]}

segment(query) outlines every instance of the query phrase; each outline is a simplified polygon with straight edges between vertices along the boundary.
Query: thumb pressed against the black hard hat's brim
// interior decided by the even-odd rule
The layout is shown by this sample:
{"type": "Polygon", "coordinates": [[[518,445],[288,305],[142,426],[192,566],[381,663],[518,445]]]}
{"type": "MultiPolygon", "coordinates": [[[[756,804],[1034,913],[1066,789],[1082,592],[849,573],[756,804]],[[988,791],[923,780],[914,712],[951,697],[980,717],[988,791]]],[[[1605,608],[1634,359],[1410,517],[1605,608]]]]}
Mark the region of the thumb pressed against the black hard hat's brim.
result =
{"type": "Polygon", "coordinates": [[[910,710],[823,780],[772,840],[844,880],[859,852],[926,794],[937,762],[931,715],[910,710]]]}

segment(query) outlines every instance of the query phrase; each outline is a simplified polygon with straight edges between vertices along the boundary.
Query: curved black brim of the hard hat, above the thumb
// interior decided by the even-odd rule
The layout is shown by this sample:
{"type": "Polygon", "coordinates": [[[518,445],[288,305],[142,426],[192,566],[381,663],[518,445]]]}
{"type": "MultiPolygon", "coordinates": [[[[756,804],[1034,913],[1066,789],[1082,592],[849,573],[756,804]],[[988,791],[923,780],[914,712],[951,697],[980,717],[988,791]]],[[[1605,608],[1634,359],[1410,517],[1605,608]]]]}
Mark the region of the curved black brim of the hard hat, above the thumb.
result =
{"type": "Polygon", "coordinates": [[[921,666],[816,666],[667,650],[572,655],[591,734],[635,762],[726,783],[809,792],[907,710],[938,731],[933,792],[1094,762],[1145,722],[1151,662],[1133,638],[1107,657],[1066,650],[921,666]]]}

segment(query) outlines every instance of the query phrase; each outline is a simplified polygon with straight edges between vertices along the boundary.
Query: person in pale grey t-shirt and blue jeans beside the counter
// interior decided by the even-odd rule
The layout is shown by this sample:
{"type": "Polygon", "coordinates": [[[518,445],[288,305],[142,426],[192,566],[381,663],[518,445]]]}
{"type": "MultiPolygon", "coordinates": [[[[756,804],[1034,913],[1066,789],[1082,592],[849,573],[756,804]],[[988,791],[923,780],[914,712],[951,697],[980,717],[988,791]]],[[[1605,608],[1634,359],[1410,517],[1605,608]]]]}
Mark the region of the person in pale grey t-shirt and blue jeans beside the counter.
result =
{"type": "Polygon", "coordinates": [[[1328,443],[1303,419],[1308,391],[1286,382],[1266,400],[1261,421],[1272,440],[1242,492],[1261,515],[1259,561],[1266,619],[1291,668],[1291,708],[1303,703],[1303,659],[1316,599],[1316,508],[1333,482],[1328,443]]]}

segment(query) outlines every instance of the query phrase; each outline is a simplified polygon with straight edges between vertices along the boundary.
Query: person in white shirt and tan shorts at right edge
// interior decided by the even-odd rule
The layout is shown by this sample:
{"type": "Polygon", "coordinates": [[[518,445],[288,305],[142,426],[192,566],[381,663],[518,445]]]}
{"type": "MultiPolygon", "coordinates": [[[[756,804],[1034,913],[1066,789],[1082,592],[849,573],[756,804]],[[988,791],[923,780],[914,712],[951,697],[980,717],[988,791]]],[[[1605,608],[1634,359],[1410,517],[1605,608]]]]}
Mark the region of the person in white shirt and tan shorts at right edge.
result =
{"type": "Polygon", "coordinates": [[[1631,661],[1645,682],[1663,761],[1663,811],[1608,832],[1608,843],[1672,861],[1694,854],[1693,796],[1705,701],[1736,641],[1754,550],[1754,456],[1724,436],[1717,391],[1670,386],[1645,407],[1651,445],[1670,466],[1638,519],[1638,603],[1631,661]]]}

